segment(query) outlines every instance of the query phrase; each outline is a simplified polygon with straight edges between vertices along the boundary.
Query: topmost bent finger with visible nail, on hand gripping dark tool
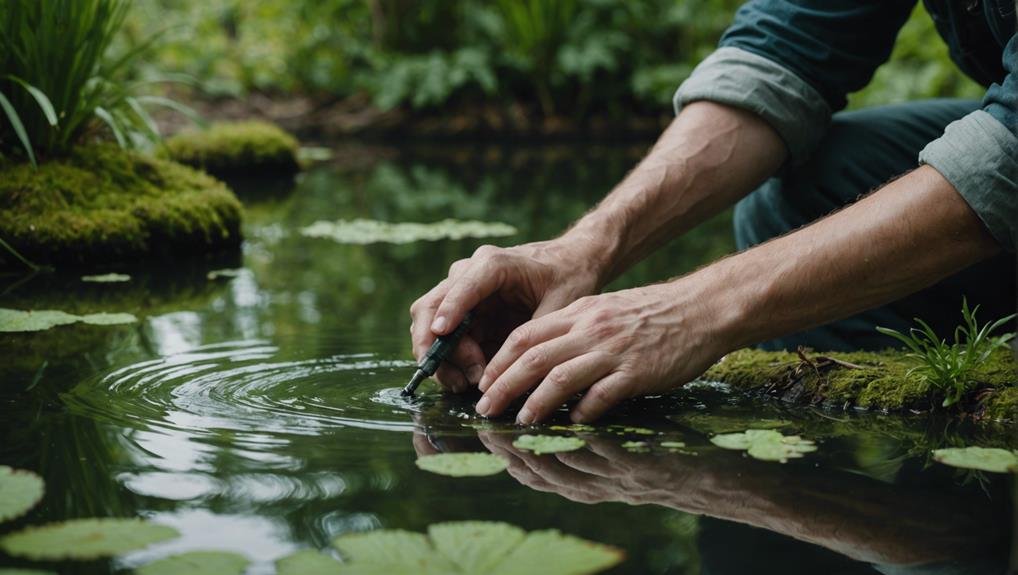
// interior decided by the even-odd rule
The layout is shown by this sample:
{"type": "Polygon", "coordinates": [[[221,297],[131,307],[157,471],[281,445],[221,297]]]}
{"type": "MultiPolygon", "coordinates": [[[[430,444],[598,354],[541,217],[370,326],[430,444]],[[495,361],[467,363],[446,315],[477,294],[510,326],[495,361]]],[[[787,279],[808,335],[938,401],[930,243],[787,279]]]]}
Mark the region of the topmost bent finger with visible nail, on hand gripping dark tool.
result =
{"type": "Polygon", "coordinates": [[[432,332],[441,336],[453,331],[467,311],[498,291],[510,272],[509,257],[504,253],[480,256],[457,277],[449,278],[449,291],[442,298],[435,320],[429,326],[432,332]]]}

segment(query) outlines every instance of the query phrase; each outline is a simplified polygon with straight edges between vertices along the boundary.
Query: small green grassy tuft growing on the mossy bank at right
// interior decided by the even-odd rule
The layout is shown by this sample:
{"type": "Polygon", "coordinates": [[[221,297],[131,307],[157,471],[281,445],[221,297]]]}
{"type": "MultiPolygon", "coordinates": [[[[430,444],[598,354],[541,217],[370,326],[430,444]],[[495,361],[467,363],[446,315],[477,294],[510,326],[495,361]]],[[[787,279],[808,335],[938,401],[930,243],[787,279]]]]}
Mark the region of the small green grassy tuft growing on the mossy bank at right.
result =
{"type": "Polygon", "coordinates": [[[979,306],[969,308],[968,300],[961,304],[962,325],[954,332],[954,342],[940,338],[929,324],[915,318],[918,328],[907,334],[890,328],[878,327],[876,331],[895,338],[908,348],[908,356],[918,362],[908,375],[916,373],[944,393],[944,407],[958,403],[971,389],[971,375],[994,351],[1007,346],[1014,334],[993,336],[1015,318],[1012,313],[996,322],[979,326],[975,313],[979,306]]]}

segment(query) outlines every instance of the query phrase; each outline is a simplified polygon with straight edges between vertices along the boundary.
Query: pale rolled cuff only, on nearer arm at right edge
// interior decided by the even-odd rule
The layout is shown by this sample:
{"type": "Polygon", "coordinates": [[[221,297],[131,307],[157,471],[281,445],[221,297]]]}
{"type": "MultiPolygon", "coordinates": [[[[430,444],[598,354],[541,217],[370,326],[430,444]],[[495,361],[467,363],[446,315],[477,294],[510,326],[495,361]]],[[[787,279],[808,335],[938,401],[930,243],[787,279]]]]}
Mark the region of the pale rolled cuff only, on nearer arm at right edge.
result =
{"type": "Polygon", "coordinates": [[[951,122],[919,153],[919,163],[941,173],[991,235],[1015,250],[1018,231],[1018,137],[983,110],[951,122]]]}

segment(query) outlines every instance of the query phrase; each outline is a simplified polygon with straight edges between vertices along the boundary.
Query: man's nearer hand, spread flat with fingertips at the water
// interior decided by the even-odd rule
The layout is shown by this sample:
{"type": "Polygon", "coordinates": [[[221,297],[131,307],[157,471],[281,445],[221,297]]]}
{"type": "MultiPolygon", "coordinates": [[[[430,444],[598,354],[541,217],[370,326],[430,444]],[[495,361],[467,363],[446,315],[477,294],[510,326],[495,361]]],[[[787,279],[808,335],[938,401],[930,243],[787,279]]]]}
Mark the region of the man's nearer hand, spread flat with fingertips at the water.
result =
{"type": "Polygon", "coordinates": [[[533,389],[516,420],[533,423],[577,393],[590,421],[623,399],[678,387],[727,349],[702,300],[682,280],[582,297],[517,328],[480,379],[477,413],[498,415],[533,389]]]}

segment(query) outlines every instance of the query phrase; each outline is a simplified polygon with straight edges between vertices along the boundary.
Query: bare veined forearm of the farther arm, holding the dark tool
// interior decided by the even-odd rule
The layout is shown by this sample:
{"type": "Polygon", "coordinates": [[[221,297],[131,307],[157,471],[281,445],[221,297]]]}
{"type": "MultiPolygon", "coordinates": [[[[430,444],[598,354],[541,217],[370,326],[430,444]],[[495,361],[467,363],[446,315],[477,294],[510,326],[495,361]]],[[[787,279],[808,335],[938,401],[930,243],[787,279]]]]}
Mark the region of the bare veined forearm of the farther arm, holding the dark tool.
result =
{"type": "Polygon", "coordinates": [[[785,156],[777,132],[758,117],[709,102],[690,104],[563,239],[590,246],[604,285],[750,192],[785,156]]]}

